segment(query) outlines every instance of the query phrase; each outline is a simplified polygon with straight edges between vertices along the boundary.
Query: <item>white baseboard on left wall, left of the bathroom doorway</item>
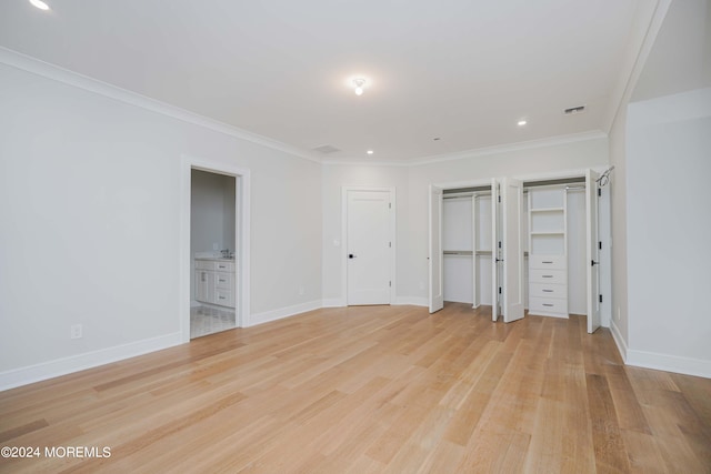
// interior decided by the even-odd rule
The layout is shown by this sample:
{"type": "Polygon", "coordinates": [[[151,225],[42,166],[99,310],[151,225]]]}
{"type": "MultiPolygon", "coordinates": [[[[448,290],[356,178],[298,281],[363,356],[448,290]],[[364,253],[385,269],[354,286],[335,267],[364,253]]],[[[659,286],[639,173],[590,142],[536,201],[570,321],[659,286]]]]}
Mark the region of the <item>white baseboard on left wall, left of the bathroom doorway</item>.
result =
{"type": "Polygon", "coordinates": [[[0,391],[14,389],[21,385],[67,375],[73,372],[92,369],[111,362],[136,357],[137,355],[172,347],[182,343],[182,333],[176,332],[158,337],[86,352],[83,354],[42,362],[27,367],[12,369],[0,373],[0,391]]]}

